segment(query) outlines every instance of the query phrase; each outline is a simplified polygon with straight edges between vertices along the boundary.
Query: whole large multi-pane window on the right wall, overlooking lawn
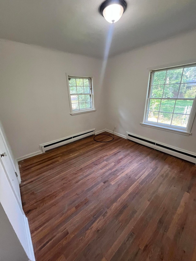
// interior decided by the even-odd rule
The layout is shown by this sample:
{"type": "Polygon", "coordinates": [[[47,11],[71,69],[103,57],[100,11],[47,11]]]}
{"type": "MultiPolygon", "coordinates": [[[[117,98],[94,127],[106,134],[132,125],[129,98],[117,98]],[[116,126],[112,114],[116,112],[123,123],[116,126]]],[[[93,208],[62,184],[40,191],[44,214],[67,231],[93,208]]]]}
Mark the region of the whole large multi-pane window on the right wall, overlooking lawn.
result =
{"type": "Polygon", "coordinates": [[[152,71],[144,123],[190,132],[195,94],[196,64],[152,71]]]}

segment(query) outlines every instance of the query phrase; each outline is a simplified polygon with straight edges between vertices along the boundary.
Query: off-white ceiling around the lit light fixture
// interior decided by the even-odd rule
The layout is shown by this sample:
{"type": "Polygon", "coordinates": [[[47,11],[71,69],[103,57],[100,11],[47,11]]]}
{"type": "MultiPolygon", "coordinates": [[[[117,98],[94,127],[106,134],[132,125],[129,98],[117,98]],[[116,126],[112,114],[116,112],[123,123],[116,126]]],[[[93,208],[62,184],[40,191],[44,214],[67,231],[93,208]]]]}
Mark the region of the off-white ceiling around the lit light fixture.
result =
{"type": "MultiPolygon", "coordinates": [[[[103,57],[196,28],[196,0],[127,0],[115,24],[98,12],[102,0],[0,0],[0,38],[103,57]]],[[[188,39],[187,39],[188,41],[188,39]]]]}

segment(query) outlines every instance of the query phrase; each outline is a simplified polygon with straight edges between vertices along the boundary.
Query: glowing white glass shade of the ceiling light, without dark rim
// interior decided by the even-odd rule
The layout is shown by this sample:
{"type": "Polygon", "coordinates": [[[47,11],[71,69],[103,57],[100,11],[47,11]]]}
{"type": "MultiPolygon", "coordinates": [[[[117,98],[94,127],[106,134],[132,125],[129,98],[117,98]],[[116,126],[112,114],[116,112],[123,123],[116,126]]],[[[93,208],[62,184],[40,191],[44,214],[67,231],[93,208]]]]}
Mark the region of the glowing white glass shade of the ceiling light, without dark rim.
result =
{"type": "Polygon", "coordinates": [[[119,4],[112,4],[106,6],[106,8],[103,11],[103,16],[106,21],[113,24],[119,21],[120,17],[123,15],[123,12],[124,12],[123,6],[119,4]]]}

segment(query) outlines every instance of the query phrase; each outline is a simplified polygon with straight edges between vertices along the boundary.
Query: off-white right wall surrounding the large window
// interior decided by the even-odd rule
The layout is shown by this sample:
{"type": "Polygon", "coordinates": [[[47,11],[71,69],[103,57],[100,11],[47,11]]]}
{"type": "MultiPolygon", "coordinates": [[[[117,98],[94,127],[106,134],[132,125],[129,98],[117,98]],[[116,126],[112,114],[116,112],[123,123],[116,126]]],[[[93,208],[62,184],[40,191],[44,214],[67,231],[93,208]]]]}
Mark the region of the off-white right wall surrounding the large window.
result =
{"type": "Polygon", "coordinates": [[[152,44],[111,58],[107,67],[107,129],[126,131],[196,152],[196,120],[192,136],[143,127],[149,70],[196,62],[196,32],[152,44]]]}

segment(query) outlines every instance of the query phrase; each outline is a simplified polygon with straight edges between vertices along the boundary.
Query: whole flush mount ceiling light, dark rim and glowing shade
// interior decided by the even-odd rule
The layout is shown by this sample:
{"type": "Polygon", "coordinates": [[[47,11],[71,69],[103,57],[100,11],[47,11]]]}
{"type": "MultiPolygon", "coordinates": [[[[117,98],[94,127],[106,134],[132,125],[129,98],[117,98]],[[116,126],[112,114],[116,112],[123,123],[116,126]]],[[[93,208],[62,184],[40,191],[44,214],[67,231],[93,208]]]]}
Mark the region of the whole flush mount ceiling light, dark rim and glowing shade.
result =
{"type": "Polygon", "coordinates": [[[106,21],[113,24],[117,22],[126,10],[124,0],[106,0],[100,6],[100,14],[106,21]]]}

